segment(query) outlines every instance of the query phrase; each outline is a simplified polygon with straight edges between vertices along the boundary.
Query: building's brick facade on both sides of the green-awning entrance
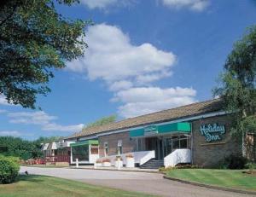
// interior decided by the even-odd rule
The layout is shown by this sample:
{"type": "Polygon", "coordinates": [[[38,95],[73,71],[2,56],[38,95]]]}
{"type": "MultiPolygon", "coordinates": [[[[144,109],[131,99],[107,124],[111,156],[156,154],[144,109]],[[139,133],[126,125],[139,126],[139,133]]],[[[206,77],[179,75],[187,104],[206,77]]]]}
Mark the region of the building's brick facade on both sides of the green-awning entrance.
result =
{"type": "MultiPolygon", "coordinates": [[[[223,160],[225,156],[241,154],[241,142],[230,136],[230,118],[228,116],[195,120],[192,122],[192,130],[194,165],[213,167],[219,165],[219,162],[223,160]],[[200,126],[214,123],[225,125],[224,139],[217,142],[206,142],[205,136],[201,136],[200,126]],[[218,142],[220,142],[220,144],[217,144],[218,142]]],[[[117,154],[117,144],[119,140],[122,140],[124,154],[135,151],[136,141],[134,139],[130,140],[129,132],[125,131],[108,136],[99,136],[100,157],[104,157],[104,142],[108,142],[108,155],[117,154]]]]}

